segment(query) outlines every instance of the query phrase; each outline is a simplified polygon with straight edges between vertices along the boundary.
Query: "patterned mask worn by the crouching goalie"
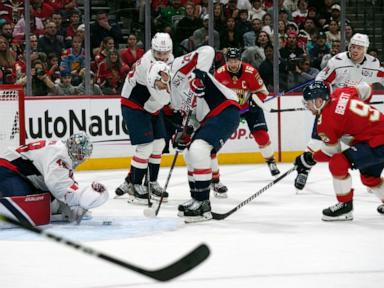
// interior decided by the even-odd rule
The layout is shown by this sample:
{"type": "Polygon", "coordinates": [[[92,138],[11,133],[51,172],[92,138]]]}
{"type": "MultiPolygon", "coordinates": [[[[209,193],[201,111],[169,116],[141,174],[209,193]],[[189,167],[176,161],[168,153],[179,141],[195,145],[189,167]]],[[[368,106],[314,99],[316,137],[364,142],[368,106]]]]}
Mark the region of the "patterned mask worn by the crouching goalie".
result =
{"type": "Polygon", "coordinates": [[[93,145],[85,132],[78,132],[69,136],[65,142],[68,155],[74,163],[74,167],[89,158],[92,154],[93,145]]]}

